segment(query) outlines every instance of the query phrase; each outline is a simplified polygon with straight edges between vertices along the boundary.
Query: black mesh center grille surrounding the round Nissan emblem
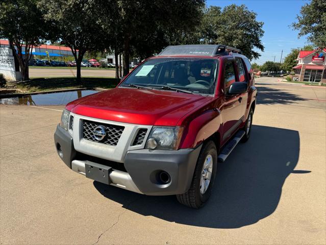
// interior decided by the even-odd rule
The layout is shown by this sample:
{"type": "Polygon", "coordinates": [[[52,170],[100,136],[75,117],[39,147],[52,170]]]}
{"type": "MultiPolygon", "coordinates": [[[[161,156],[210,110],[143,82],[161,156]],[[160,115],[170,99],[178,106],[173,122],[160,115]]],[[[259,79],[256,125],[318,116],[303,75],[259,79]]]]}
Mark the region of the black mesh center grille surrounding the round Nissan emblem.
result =
{"type": "Polygon", "coordinates": [[[101,122],[83,120],[83,137],[84,139],[100,142],[108,145],[117,145],[120,139],[120,136],[124,130],[123,126],[111,125],[111,124],[102,124],[101,122]],[[105,127],[105,137],[102,140],[97,140],[94,137],[93,131],[98,126],[105,127]]]}

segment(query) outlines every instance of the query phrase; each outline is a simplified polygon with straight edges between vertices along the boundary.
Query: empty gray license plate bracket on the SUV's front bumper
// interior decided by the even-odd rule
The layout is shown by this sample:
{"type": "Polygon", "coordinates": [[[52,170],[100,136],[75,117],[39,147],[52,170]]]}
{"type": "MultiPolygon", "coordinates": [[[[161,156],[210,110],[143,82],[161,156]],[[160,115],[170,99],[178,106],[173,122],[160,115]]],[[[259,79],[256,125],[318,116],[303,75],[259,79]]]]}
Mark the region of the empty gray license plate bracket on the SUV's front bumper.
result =
{"type": "Polygon", "coordinates": [[[106,165],[91,161],[85,162],[85,173],[86,177],[89,179],[109,185],[111,183],[109,178],[110,171],[111,167],[106,165]]]}

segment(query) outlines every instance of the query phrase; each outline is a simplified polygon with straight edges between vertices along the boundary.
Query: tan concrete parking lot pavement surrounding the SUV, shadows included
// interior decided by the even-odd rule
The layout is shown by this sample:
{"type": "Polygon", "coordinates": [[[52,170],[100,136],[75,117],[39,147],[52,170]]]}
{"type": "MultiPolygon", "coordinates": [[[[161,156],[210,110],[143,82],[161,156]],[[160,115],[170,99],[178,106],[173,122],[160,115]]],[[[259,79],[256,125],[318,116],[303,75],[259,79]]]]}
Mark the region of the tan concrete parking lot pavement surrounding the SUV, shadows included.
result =
{"type": "Polygon", "coordinates": [[[69,170],[53,140],[63,106],[0,106],[1,244],[325,244],[326,89],[256,84],[252,135],[200,210],[69,170]]]}

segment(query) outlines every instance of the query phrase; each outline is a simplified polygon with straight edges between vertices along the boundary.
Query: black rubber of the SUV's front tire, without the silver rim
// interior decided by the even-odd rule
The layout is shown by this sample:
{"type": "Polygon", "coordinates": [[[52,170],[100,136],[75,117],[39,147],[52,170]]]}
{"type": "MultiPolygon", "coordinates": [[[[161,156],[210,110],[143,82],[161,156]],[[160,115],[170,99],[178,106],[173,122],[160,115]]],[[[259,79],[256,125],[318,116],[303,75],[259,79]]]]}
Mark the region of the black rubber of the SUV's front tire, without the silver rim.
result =
{"type": "Polygon", "coordinates": [[[190,208],[198,209],[203,207],[212,194],[214,180],[216,177],[216,168],[217,168],[216,146],[215,143],[210,140],[204,143],[202,150],[200,150],[189,190],[183,194],[178,194],[177,195],[178,201],[181,204],[188,206],[190,208]],[[202,194],[200,192],[200,179],[202,178],[204,162],[206,161],[206,157],[209,155],[212,156],[212,161],[213,161],[211,180],[209,182],[207,190],[202,194]]]}

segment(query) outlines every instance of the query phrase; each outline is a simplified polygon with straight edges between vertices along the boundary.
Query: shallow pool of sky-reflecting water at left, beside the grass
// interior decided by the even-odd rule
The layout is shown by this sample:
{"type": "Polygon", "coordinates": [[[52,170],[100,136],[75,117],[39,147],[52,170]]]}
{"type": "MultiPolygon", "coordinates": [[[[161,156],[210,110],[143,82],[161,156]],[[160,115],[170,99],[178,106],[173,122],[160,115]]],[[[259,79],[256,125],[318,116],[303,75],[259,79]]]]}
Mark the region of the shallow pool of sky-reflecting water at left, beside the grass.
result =
{"type": "Polygon", "coordinates": [[[79,90],[59,93],[45,93],[26,95],[22,97],[11,97],[0,100],[3,105],[27,105],[27,106],[49,106],[66,105],[69,102],[84,97],[89,94],[97,93],[95,90],[79,90]]]}

